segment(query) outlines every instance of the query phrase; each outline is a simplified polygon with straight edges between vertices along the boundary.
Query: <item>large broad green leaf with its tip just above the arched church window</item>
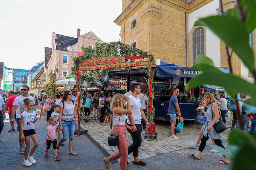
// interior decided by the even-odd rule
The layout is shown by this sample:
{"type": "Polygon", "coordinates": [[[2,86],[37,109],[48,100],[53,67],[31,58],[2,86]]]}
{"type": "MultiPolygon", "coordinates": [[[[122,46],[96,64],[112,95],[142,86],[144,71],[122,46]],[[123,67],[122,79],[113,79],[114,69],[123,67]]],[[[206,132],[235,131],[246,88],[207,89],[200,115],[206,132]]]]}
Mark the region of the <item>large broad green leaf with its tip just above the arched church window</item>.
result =
{"type": "Polygon", "coordinates": [[[250,71],[254,71],[253,50],[244,23],[230,16],[210,16],[195,22],[195,26],[207,26],[241,58],[250,71]]]}

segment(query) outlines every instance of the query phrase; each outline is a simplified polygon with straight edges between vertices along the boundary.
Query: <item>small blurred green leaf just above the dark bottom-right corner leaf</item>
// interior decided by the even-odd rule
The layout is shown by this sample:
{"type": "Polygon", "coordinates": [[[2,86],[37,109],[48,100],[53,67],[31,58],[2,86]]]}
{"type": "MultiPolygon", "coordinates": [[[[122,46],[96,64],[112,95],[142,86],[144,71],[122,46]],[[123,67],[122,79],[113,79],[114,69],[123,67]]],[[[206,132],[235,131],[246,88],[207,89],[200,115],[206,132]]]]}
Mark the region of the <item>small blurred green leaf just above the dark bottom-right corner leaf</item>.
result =
{"type": "Polygon", "coordinates": [[[246,143],[255,144],[256,140],[249,133],[242,130],[232,130],[227,138],[230,145],[242,147],[246,143]]]}

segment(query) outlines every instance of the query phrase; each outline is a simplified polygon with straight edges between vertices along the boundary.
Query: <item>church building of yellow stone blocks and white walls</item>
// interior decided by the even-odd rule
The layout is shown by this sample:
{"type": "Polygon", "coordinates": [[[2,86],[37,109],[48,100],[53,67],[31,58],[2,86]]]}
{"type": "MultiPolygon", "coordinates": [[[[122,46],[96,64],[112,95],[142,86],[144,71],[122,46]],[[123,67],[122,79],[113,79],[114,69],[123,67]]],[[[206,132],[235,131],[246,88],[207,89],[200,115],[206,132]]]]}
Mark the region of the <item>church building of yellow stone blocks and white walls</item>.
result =
{"type": "MultiPolygon", "coordinates": [[[[236,5],[222,0],[224,10],[236,5]]],[[[217,15],[219,0],[122,0],[122,13],[114,20],[121,27],[121,41],[149,51],[155,59],[180,66],[192,66],[198,54],[211,58],[217,67],[227,67],[224,44],[206,27],[194,27],[196,20],[217,15]]],[[[255,34],[250,44],[255,48],[255,34]]],[[[236,54],[234,73],[250,81],[250,74],[236,54]]]]}

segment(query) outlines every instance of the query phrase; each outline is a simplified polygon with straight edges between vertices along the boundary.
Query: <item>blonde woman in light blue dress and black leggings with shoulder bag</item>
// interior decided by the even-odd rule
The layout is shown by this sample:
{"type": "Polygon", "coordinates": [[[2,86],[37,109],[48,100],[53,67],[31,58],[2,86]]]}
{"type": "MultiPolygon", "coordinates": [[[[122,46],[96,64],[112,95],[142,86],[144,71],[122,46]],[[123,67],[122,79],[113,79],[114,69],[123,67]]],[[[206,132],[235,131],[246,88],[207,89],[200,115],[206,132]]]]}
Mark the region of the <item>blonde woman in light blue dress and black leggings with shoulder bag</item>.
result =
{"type": "MultiPolygon", "coordinates": [[[[213,139],[217,146],[224,148],[224,146],[221,144],[221,142],[224,142],[222,133],[216,133],[215,129],[212,128],[213,125],[218,121],[218,119],[220,117],[218,105],[215,102],[215,98],[214,98],[213,94],[211,94],[211,93],[207,92],[206,94],[204,94],[204,99],[205,99],[204,107],[207,108],[206,112],[205,112],[205,115],[207,117],[207,121],[205,122],[205,127],[207,127],[207,128],[204,130],[203,138],[201,139],[201,144],[199,146],[198,152],[195,154],[190,154],[195,159],[200,159],[200,155],[201,155],[202,151],[204,150],[204,147],[205,147],[208,139],[213,139]]],[[[218,163],[219,164],[230,164],[230,161],[227,158],[227,156],[223,156],[223,157],[224,157],[224,159],[218,161],[218,163]]]]}

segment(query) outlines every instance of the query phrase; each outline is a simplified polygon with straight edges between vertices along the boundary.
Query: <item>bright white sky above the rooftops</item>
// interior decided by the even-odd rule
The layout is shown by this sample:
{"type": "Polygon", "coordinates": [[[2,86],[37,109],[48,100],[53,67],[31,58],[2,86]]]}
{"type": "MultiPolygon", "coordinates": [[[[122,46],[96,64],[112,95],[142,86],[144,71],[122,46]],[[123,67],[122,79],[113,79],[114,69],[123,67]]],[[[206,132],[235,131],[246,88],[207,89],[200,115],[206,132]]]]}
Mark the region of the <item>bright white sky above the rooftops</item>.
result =
{"type": "Polygon", "coordinates": [[[0,0],[0,62],[7,68],[31,69],[52,47],[52,32],[76,37],[92,31],[103,42],[120,39],[113,21],[122,0],[0,0]]]}

